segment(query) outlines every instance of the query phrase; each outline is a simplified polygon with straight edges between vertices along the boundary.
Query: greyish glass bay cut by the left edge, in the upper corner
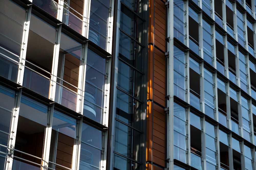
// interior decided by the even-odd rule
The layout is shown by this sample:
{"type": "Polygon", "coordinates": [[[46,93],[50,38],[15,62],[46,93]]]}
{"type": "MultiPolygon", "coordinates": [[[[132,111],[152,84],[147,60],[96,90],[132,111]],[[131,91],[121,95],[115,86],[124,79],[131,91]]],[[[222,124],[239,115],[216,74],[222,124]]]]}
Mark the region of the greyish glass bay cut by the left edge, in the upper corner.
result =
{"type": "Polygon", "coordinates": [[[17,82],[18,64],[22,47],[26,9],[10,0],[3,0],[0,7],[0,75],[17,82]]]}

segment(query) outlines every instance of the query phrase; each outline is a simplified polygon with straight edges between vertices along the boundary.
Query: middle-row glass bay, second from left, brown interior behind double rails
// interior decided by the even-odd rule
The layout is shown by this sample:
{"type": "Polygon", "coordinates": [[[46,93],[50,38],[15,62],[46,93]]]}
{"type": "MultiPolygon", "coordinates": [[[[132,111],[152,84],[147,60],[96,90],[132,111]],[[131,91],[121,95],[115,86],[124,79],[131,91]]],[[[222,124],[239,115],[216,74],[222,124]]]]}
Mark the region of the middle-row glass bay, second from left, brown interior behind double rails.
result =
{"type": "Polygon", "coordinates": [[[23,86],[47,98],[49,97],[55,42],[56,28],[32,14],[23,86]]]}

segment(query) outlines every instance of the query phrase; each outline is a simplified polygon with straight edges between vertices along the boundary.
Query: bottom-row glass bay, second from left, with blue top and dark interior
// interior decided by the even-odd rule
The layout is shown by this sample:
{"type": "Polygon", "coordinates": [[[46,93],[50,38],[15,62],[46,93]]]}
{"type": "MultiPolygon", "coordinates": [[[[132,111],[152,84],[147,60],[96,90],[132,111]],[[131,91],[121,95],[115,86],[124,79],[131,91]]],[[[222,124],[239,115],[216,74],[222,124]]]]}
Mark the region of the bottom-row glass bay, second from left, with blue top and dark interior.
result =
{"type": "MultiPolygon", "coordinates": [[[[47,110],[47,106],[26,96],[22,96],[15,141],[15,156],[41,164],[41,159],[35,159],[32,156],[21,154],[19,151],[42,158],[45,129],[47,126],[47,110]]],[[[30,165],[28,162],[24,162],[18,158],[14,160],[13,165],[14,169],[19,166],[24,169],[30,169],[31,167],[40,168],[38,165],[30,165]]]]}

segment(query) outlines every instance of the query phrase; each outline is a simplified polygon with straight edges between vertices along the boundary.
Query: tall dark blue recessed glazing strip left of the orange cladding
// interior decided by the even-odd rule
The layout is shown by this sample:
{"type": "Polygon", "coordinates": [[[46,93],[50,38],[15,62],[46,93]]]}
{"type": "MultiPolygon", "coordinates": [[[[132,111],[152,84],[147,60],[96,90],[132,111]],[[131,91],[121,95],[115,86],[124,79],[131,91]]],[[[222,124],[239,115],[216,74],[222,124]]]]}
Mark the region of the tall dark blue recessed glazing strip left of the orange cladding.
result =
{"type": "Polygon", "coordinates": [[[114,169],[142,168],[144,127],[144,1],[121,1],[114,169]]]}

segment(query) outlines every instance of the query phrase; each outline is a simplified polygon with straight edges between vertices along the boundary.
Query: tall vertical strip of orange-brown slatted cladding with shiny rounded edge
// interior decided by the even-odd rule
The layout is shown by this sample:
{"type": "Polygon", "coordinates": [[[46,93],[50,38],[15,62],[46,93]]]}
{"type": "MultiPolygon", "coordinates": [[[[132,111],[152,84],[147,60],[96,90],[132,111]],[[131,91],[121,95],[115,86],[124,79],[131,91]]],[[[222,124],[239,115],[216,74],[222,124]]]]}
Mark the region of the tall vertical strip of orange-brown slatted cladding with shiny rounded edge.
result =
{"type": "Polygon", "coordinates": [[[149,1],[146,161],[159,166],[146,164],[147,170],[165,167],[165,11],[163,1],[149,1]]]}

